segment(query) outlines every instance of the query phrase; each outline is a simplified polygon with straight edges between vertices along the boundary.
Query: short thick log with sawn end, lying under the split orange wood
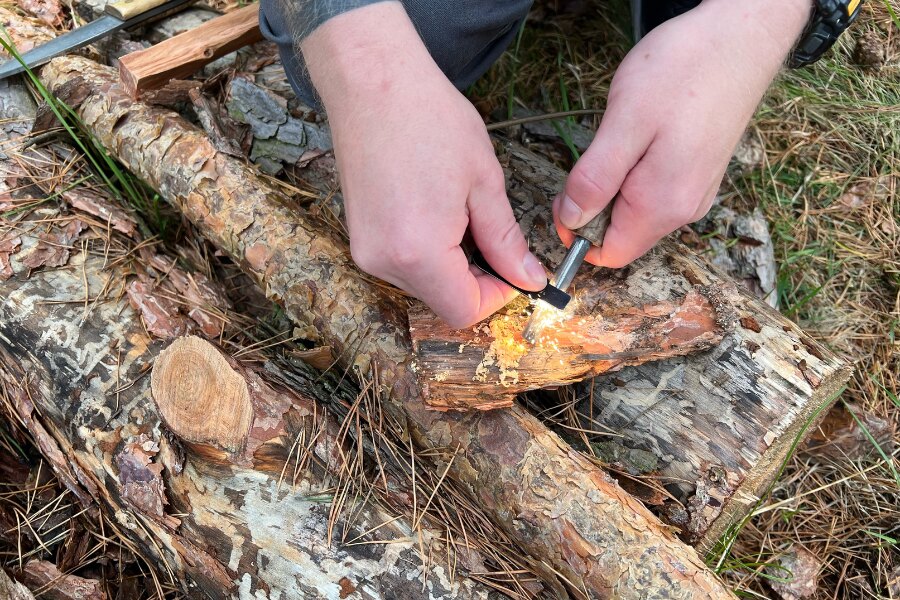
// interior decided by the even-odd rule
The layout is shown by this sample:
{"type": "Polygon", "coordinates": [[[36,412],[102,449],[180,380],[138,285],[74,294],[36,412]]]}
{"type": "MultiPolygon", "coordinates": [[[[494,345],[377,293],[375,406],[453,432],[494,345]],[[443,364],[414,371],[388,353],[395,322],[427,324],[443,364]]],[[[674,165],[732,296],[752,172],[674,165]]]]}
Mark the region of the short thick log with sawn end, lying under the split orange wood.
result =
{"type": "MultiPolygon", "coordinates": [[[[503,148],[513,211],[538,256],[560,259],[547,198],[565,173],[516,144],[503,148]]],[[[643,281],[644,298],[665,297],[671,287],[716,289],[736,319],[712,351],[628,367],[578,387],[578,412],[586,430],[621,435],[626,451],[655,457],[652,475],[680,504],[661,514],[701,554],[740,521],[769,489],[810,419],[824,415],[852,366],[683,245],[664,240],[620,277],[643,281]],[[671,270],[650,266],[665,257],[671,270]],[[651,262],[647,262],[647,261],[651,262]]],[[[621,454],[621,453],[620,453],[621,454]]],[[[628,467],[639,465],[627,465],[628,467]]],[[[629,469],[630,470],[630,469],[629,469]]]]}

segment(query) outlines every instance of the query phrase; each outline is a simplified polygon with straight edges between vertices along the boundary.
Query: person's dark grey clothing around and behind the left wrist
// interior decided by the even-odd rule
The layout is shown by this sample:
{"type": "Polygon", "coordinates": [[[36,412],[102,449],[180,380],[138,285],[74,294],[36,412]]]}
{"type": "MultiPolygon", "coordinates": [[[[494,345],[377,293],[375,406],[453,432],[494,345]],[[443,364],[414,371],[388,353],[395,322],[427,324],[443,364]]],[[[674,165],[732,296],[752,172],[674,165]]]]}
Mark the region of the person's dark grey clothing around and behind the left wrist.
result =
{"type": "MultiPolygon", "coordinates": [[[[341,13],[386,0],[260,0],[260,29],[278,45],[297,96],[321,108],[300,42],[341,13]]],[[[481,77],[515,39],[532,0],[402,0],[437,65],[457,89],[481,77]]]]}

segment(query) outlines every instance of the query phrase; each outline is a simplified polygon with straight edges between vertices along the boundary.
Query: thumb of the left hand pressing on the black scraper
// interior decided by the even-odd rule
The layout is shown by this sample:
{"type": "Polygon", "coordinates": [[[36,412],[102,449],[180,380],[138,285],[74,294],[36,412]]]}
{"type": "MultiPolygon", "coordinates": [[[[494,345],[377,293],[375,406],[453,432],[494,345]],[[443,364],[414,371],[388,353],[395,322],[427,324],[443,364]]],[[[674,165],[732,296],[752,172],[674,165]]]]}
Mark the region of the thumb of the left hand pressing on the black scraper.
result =
{"type": "Polygon", "coordinates": [[[547,273],[528,250],[528,243],[513,216],[503,174],[492,174],[469,192],[469,231],[475,245],[492,267],[512,284],[527,290],[547,285],[547,273]]]}

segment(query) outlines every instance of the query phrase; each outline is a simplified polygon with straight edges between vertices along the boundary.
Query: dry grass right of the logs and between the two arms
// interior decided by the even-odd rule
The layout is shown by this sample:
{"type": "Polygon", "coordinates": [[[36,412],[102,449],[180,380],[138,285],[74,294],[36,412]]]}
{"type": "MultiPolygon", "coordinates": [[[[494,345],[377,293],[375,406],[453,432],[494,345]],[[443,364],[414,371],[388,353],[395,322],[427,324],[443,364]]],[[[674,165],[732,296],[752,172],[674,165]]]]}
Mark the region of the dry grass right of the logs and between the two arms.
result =
{"type": "MultiPolygon", "coordinates": [[[[604,106],[630,46],[626,3],[583,14],[565,4],[538,3],[517,47],[472,90],[482,113],[604,106]]],[[[772,597],[765,567],[796,543],[822,562],[816,598],[900,598],[898,39],[884,4],[869,2],[825,60],[779,78],[751,123],[764,165],[723,184],[724,202],[759,206],[770,222],[784,314],[856,363],[842,402],[895,427],[894,443],[867,456],[806,453],[786,465],[730,552],[710,557],[748,597],[772,597]],[[864,32],[886,49],[880,71],[852,64],[864,32]]]]}

